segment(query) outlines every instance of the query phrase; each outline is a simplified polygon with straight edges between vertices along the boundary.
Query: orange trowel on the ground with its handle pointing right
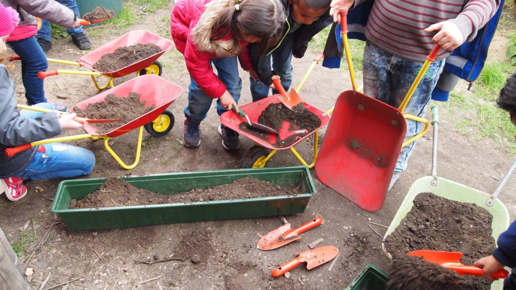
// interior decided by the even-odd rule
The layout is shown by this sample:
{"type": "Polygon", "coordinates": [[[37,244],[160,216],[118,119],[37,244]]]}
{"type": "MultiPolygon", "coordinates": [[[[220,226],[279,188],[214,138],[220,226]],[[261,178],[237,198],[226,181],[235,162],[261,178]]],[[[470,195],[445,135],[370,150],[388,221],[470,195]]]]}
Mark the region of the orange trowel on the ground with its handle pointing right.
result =
{"type": "Polygon", "coordinates": [[[300,233],[308,231],[320,224],[322,224],[322,218],[320,217],[310,220],[308,223],[301,225],[297,229],[291,229],[290,223],[287,223],[262,236],[256,247],[264,251],[279,248],[290,242],[299,240],[301,238],[298,236],[300,233]]]}

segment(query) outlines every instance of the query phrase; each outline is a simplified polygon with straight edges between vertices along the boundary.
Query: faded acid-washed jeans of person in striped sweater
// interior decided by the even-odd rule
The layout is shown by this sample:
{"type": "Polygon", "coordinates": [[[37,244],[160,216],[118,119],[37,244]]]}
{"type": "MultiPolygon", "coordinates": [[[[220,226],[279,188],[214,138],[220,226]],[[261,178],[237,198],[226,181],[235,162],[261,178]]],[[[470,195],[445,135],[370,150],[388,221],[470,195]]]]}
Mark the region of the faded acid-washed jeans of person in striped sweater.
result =
{"type": "MultiPolygon", "coordinates": [[[[428,52],[430,53],[430,52],[428,52]]],[[[395,108],[401,105],[417,74],[421,71],[423,62],[401,59],[390,53],[383,52],[374,45],[367,43],[364,50],[364,93],[381,100],[395,108]]],[[[420,84],[417,86],[404,114],[424,117],[433,88],[436,87],[439,75],[443,70],[444,61],[430,64],[420,84]]],[[[424,124],[407,120],[407,135],[405,141],[420,133],[424,124]]],[[[414,150],[416,141],[401,148],[395,173],[407,168],[407,161],[414,150]]]]}

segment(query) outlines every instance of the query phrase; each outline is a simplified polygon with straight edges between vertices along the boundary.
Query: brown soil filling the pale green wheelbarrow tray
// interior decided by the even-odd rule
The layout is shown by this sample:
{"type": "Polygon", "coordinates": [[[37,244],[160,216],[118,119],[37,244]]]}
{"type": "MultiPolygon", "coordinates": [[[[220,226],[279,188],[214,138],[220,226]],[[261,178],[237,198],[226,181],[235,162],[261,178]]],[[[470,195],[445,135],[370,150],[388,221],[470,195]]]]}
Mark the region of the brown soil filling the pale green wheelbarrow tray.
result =
{"type": "MultiPolygon", "coordinates": [[[[461,263],[473,265],[477,259],[490,255],[496,247],[491,236],[492,219],[488,211],[474,204],[445,199],[431,193],[420,193],[414,198],[414,206],[410,212],[385,238],[385,248],[393,257],[413,250],[461,252],[464,255],[461,263]]],[[[409,270],[410,266],[407,267],[407,271],[409,270]]],[[[420,276],[440,279],[432,276],[431,272],[418,272],[420,276]]],[[[399,275],[406,274],[400,272],[399,275]]],[[[459,289],[487,290],[491,287],[490,282],[477,276],[459,276],[458,281],[461,282],[457,284],[459,289]]],[[[425,285],[418,287],[423,288],[425,285]]]]}

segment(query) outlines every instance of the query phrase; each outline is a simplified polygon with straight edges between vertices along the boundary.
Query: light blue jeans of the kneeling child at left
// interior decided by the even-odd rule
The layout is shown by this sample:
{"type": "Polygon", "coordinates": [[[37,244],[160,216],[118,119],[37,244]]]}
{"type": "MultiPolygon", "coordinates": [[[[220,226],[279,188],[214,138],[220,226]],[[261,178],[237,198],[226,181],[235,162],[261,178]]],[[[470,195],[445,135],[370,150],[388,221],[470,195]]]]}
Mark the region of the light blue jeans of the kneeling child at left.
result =
{"type": "MultiPolygon", "coordinates": [[[[40,103],[35,107],[54,109],[54,106],[48,103],[40,103]]],[[[36,118],[43,113],[21,110],[20,114],[25,118],[36,118]]],[[[17,177],[32,180],[68,178],[89,174],[94,166],[95,156],[90,150],[63,143],[51,143],[38,146],[32,162],[17,177]]]]}

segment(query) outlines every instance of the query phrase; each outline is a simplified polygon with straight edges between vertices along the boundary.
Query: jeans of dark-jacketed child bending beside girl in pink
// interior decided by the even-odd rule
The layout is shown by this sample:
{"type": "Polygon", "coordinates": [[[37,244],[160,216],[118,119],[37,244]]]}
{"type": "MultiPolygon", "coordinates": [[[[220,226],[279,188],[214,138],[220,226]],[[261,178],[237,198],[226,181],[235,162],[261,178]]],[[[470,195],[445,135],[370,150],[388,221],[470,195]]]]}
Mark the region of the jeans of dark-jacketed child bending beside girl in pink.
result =
{"type": "MultiPolygon", "coordinates": [[[[292,41],[291,43],[293,44],[294,42],[292,41]]],[[[285,90],[288,90],[292,84],[292,49],[292,45],[283,45],[278,47],[267,57],[267,66],[271,67],[270,61],[272,59],[272,70],[280,76],[281,84],[285,90]]],[[[249,77],[249,80],[251,82],[251,97],[253,101],[270,96],[270,88],[263,82],[260,80],[254,81],[251,77],[249,77]]],[[[277,90],[272,90],[272,94],[278,93],[277,90]]]]}

